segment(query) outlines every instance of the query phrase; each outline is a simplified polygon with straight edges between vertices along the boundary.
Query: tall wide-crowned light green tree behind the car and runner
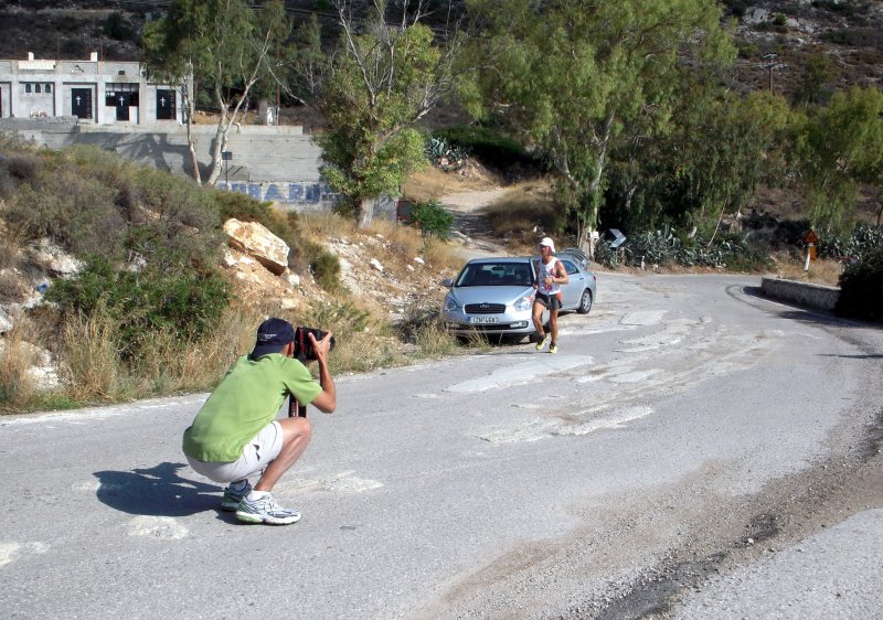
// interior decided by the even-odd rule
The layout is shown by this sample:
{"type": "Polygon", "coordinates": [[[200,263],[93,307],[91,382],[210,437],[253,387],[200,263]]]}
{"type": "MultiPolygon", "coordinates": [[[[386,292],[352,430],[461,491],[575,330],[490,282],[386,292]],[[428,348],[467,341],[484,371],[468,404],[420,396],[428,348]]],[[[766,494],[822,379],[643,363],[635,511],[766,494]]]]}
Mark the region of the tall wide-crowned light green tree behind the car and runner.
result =
{"type": "Polygon", "coordinates": [[[616,140],[670,130],[684,72],[735,56],[713,0],[467,0],[467,7],[483,33],[471,57],[483,62],[464,100],[547,156],[581,245],[597,226],[616,140]]]}

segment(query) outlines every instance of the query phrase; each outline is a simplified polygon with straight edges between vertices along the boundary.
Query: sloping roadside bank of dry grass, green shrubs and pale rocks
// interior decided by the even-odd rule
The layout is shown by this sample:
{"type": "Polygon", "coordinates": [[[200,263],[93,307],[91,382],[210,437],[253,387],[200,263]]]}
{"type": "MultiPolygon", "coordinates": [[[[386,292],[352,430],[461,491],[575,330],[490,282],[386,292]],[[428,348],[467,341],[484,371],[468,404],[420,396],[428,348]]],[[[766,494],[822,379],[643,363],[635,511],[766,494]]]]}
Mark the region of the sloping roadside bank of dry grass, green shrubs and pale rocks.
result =
{"type": "Polygon", "coordinates": [[[350,245],[349,235],[372,247],[393,266],[377,274],[381,281],[408,277],[395,265],[423,256],[427,267],[409,288],[426,290],[458,259],[413,228],[379,223],[360,233],[331,214],[281,214],[93,148],[54,152],[0,136],[0,410],[210,388],[252,349],[255,325],[267,316],[332,330],[334,372],[456,348],[427,322],[427,303],[404,307],[393,329],[392,295],[368,291],[385,307],[354,295],[325,245],[331,235],[350,245]],[[259,222],[284,239],[288,274],[300,282],[264,269],[222,269],[228,218],[259,222]]]}

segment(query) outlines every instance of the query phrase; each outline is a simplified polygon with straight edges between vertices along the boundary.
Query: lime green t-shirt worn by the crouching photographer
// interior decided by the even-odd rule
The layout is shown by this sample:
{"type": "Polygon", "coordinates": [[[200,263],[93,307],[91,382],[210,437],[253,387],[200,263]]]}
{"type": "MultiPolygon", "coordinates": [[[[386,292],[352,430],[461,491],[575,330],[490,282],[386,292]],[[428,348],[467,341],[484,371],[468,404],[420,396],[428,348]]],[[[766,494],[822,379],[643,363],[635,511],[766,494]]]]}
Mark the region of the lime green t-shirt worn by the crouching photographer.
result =
{"type": "Polygon", "coordinates": [[[321,392],[298,360],[280,353],[256,361],[243,355],[184,430],[184,453],[205,462],[235,461],[243,446],[276,419],[288,394],[306,405],[321,392]]]}

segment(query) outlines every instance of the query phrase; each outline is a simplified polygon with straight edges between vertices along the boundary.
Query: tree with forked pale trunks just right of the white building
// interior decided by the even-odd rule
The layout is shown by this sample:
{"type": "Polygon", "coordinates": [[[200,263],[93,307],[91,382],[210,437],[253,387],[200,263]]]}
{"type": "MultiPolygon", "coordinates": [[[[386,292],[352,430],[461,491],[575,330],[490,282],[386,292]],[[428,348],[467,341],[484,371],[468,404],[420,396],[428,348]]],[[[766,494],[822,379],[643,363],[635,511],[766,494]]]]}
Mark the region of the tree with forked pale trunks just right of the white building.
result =
{"type": "MultiPolygon", "coordinates": [[[[148,24],[143,44],[148,71],[156,77],[187,85],[199,83],[219,113],[212,146],[212,168],[205,184],[214,185],[222,170],[230,130],[248,110],[253,89],[276,79],[289,62],[291,33],[281,0],[253,8],[245,0],[171,0],[166,15],[148,24]]],[[[193,178],[202,182],[193,138],[195,101],[183,88],[188,146],[193,178]]]]}

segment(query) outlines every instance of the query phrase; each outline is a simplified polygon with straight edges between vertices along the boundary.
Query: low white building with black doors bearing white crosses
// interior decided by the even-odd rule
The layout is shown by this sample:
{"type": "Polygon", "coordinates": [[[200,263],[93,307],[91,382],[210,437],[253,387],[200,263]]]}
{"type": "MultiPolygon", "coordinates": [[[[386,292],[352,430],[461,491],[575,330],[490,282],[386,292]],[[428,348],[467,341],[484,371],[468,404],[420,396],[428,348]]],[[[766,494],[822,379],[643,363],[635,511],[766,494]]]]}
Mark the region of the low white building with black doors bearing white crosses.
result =
{"type": "Polygon", "coordinates": [[[95,125],[183,122],[181,86],[147,81],[138,62],[0,61],[0,117],[75,116],[95,125]]]}

